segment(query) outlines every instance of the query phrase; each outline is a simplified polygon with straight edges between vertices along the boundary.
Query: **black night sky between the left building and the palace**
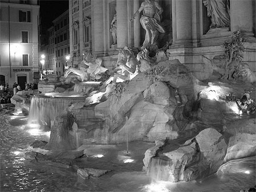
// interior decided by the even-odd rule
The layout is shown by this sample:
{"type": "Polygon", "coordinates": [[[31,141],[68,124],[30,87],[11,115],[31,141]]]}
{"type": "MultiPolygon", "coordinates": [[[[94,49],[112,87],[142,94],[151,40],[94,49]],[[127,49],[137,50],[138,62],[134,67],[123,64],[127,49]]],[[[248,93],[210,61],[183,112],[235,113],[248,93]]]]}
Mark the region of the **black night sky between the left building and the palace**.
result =
{"type": "Polygon", "coordinates": [[[40,0],[41,24],[44,28],[52,26],[52,20],[68,10],[68,0],[47,1],[40,0]]]}

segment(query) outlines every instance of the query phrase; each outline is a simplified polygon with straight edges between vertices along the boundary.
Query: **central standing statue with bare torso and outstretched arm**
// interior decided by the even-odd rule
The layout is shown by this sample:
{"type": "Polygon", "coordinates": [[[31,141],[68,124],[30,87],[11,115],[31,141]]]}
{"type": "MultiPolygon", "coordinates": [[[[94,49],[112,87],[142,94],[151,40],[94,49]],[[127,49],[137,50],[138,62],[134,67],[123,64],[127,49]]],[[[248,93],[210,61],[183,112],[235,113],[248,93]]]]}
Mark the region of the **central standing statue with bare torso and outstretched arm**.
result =
{"type": "Polygon", "coordinates": [[[158,2],[145,0],[142,2],[141,7],[134,13],[131,20],[135,19],[141,11],[143,11],[143,15],[141,16],[140,22],[143,29],[146,31],[145,40],[142,45],[143,49],[148,45],[157,45],[159,32],[165,33],[166,31],[160,26],[163,8],[158,2]]]}

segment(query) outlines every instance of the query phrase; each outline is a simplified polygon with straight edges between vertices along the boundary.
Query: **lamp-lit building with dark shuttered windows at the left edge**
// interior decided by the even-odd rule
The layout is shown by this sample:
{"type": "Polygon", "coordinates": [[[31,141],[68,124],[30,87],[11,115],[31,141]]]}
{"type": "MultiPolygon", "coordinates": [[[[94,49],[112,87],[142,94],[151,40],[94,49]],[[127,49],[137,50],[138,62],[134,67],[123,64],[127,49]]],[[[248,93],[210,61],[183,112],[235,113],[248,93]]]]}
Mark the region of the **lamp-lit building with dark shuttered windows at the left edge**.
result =
{"type": "Polygon", "coordinates": [[[25,83],[39,79],[38,1],[0,1],[1,84],[25,83]]]}

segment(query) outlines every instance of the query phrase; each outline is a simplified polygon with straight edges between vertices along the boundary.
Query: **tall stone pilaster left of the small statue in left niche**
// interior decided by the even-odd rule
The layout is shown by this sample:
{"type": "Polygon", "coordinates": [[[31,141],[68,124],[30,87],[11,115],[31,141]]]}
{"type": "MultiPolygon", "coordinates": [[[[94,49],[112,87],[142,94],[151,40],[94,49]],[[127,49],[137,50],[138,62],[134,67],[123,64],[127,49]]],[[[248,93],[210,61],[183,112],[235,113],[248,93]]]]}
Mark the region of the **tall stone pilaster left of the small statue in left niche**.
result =
{"type": "Polygon", "coordinates": [[[104,51],[103,1],[92,1],[92,48],[94,53],[104,51]]]}

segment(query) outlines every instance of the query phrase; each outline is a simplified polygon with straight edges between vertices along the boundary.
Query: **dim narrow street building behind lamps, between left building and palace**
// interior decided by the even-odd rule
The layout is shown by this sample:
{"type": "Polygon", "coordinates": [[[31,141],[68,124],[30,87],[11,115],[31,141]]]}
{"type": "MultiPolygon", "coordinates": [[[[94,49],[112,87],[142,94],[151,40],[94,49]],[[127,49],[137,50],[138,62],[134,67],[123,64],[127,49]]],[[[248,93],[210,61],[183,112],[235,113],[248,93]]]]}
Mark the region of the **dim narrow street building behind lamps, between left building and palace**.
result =
{"type": "Polygon", "coordinates": [[[52,21],[53,26],[47,30],[48,43],[41,46],[40,54],[44,55],[42,73],[54,73],[63,76],[66,59],[70,54],[69,48],[69,11],[63,12],[52,21]]]}

